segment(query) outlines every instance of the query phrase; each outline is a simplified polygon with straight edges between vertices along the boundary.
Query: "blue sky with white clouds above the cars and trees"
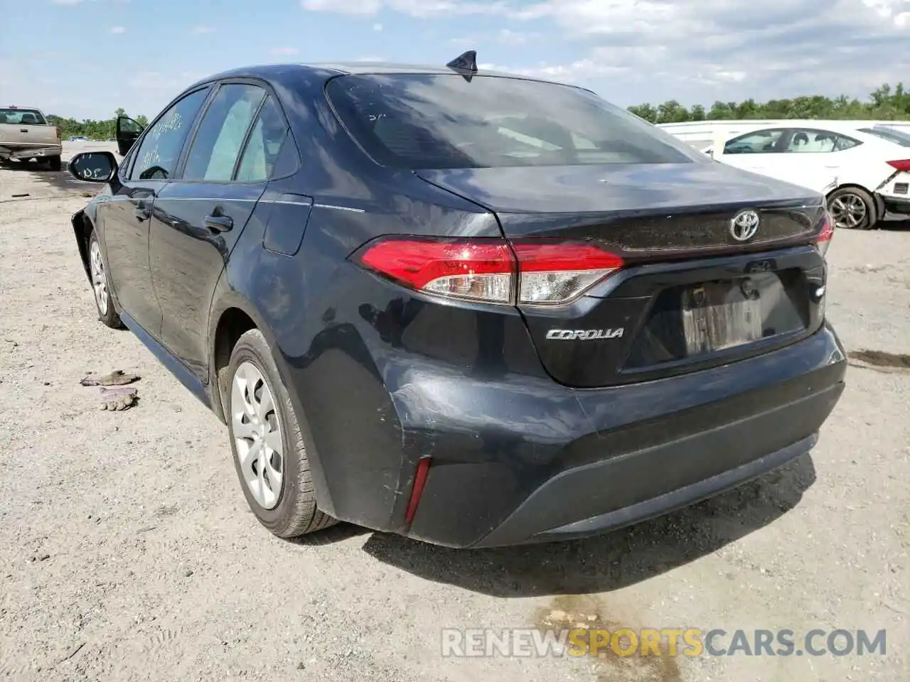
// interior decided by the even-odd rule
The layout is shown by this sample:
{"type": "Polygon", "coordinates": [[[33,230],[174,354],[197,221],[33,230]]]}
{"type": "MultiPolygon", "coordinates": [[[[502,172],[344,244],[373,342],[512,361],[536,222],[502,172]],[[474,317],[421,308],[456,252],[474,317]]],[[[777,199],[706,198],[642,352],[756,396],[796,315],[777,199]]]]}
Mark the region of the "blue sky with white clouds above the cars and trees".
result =
{"type": "Polygon", "coordinates": [[[910,0],[0,0],[0,104],[152,117],[238,65],[384,59],[580,83],[619,105],[910,85],[910,0]]]}

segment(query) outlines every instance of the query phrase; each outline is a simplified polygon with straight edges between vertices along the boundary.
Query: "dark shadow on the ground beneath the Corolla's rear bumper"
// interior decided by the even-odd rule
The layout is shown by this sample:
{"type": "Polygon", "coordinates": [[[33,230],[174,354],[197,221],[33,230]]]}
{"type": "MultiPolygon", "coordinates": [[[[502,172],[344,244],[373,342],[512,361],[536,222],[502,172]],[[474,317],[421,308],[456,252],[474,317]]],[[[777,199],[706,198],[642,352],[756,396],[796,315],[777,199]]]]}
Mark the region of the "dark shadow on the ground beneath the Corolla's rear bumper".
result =
{"type": "Polygon", "coordinates": [[[720,496],[636,526],[521,547],[450,549],[349,524],[296,542],[325,545],[369,534],[363,545],[369,556],[415,576],[492,597],[611,592],[712,554],[767,526],[799,504],[814,482],[814,463],[806,454],[720,496]]]}

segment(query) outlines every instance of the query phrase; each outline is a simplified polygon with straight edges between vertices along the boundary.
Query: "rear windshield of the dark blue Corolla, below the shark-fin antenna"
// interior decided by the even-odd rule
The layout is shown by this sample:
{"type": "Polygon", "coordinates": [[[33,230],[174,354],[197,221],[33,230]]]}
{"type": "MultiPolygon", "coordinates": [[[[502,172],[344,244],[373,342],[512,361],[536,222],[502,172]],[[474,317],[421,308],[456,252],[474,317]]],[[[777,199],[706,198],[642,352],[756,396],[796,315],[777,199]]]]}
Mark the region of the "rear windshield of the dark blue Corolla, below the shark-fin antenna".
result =
{"type": "Polygon", "coordinates": [[[343,75],[342,123],[393,168],[680,164],[704,157],[580,88],[499,76],[343,75]]]}

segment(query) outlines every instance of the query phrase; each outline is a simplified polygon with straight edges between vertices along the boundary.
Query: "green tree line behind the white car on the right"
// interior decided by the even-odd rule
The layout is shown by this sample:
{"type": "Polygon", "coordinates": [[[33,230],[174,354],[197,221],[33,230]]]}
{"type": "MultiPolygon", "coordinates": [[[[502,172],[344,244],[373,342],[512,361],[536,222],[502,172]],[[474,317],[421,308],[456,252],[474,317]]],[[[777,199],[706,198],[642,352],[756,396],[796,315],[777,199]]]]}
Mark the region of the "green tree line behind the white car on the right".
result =
{"type": "Polygon", "coordinates": [[[662,105],[630,106],[632,114],[651,123],[682,123],[684,121],[742,120],[748,118],[823,118],[905,121],[910,119],[910,92],[904,84],[882,85],[865,101],[846,95],[825,97],[808,95],[793,99],[773,99],[769,102],[714,102],[710,109],[703,105],[686,108],[676,100],[662,105]]]}

